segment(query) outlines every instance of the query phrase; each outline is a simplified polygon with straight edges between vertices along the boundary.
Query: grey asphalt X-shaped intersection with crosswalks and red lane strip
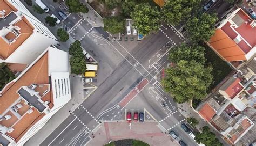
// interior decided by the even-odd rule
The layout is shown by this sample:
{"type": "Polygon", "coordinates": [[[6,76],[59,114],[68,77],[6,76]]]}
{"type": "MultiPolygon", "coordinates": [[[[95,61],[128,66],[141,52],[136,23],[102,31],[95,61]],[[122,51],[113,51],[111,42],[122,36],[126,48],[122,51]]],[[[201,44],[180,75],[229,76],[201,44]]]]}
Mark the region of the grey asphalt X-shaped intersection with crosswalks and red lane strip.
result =
{"type": "Polygon", "coordinates": [[[72,28],[70,35],[98,61],[98,89],[40,145],[84,145],[101,121],[125,120],[131,108],[146,110],[164,132],[175,130],[188,145],[197,145],[180,128],[184,117],[159,84],[161,71],[168,64],[168,51],[185,41],[180,32],[162,25],[133,49],[124,47],[123,42],[107,40],[102,28],[92,27],[85,19],[72,28]],[[139,104],[133,104],[137,99],[139,104]]]}

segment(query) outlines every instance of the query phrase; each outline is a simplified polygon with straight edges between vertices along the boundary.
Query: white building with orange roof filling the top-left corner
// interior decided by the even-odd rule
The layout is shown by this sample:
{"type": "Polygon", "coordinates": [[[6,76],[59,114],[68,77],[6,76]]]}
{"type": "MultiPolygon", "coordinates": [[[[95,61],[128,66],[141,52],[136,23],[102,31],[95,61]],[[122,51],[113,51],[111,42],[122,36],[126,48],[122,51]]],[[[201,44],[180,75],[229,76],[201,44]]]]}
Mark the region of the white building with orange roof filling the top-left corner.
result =
{"type": "Polygon", "coordinates": [[[0,63],[32,63],[55,36],[19,0],[0,0],[0,63]]]}

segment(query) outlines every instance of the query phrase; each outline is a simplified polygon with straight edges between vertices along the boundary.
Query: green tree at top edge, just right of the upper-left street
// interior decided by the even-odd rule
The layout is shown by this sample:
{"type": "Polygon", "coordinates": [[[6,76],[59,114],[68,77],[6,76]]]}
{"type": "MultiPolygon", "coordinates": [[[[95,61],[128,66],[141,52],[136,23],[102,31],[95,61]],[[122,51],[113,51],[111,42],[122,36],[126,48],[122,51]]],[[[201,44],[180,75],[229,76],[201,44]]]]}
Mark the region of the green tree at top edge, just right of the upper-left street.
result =
{"type": "Polygon", "coordinates": [[[66,0],[66,5],[69,7],[70,13],[87,13],[89,9],[83,3],[80,3],[79,0],[66,0]]]}

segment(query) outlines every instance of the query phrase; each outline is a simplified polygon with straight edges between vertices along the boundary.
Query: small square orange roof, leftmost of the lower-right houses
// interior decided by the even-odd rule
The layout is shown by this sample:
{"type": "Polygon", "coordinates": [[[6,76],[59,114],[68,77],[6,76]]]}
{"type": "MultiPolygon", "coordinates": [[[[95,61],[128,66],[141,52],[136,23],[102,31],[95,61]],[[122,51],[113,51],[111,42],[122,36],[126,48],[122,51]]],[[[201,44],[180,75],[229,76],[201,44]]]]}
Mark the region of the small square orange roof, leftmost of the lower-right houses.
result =
{"type": "Polygon", "coordinates": [[[209,122],[212,117],[215,115],[216,111],[207,103],[200,109],[199,114],[209,122]]]}

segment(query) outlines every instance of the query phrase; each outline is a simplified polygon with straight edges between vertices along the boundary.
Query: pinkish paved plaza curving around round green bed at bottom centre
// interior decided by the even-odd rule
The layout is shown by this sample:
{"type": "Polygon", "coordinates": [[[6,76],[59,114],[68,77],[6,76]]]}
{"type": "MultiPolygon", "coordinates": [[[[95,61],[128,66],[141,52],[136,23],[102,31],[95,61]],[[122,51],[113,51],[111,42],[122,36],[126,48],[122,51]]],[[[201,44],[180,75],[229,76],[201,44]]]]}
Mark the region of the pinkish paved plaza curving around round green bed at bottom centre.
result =
{"type": "Polygon", "coordinates": [[[104,145],[110,140],[136,139],[150,145],[179,145],[177,141],[161,132],[156,126],[156,122],[132,122],[131,126],[127,122],[103,122],[101,127],[90,135],[90,145],[104,145]]]}

